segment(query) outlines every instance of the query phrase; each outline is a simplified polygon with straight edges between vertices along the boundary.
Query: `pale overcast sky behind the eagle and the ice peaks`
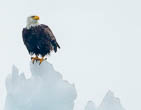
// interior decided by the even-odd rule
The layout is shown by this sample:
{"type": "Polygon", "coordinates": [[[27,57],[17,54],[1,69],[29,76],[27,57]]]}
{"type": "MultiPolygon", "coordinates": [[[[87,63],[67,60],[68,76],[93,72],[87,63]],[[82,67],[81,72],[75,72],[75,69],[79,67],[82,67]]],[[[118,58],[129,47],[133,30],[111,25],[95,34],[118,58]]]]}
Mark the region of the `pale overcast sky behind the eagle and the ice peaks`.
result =
{"type": "Polygon", "coordinates": [[[12,65],[30,74],[21,33],[27,16],[36,14],[61,46],[48,61],[75,84],[76,108],[88,100],[98,105],[111,89],[127,110],[140,110],[140,4],[140,0],[0,0],[0,109],[4,78],[12,65]]]}

